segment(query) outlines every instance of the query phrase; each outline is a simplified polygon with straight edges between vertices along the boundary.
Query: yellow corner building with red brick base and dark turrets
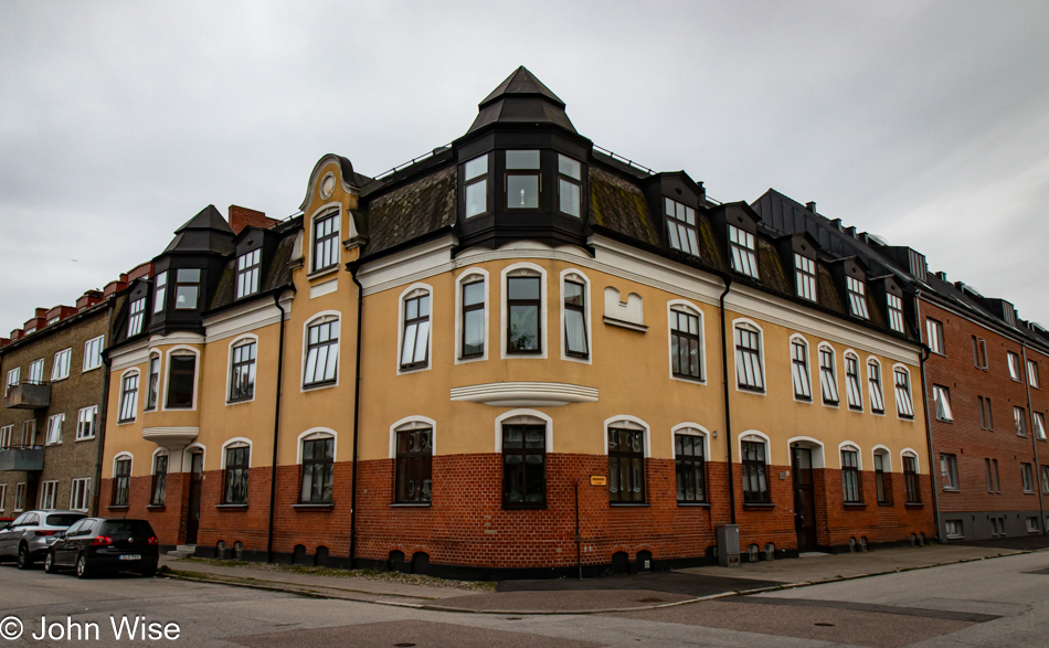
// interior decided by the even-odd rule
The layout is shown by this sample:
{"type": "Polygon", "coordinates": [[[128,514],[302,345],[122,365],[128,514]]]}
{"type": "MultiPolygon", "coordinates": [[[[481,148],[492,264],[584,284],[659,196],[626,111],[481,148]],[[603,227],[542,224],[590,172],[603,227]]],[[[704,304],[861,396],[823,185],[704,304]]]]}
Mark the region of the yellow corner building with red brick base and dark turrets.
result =
{"type": "Polygon", "coordinates": [[[205,209],[115,317],[103,509],[162,544],[495,577],[935,532],[897,278],[594,146],[527,70],[378,179],[321,158],[300,212],[205,209]]]}

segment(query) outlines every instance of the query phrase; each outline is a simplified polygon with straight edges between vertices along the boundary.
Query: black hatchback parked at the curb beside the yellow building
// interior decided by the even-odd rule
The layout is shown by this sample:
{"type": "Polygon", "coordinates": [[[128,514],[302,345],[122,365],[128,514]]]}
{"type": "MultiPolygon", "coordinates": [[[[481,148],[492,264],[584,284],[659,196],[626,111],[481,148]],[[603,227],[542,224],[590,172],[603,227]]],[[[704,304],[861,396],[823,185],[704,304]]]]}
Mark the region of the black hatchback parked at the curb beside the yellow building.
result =
{"type": "Polygon", "coordinates": [[[106,571],[157,573],[160,544],[146,520],[84,518],[57,535],[44,559],[49,574],[62,567],[75,569],[81,578],[106,571]]]}

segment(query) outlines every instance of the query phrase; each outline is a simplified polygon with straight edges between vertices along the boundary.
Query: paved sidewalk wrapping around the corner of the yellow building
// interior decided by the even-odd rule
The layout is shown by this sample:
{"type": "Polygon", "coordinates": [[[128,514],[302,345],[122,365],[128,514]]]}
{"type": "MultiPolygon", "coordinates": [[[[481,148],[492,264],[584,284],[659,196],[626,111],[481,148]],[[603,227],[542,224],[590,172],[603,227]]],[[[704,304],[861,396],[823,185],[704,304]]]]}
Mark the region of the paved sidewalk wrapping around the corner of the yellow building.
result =
{"type": "Polygon", "coordinates": [[[865,553],[813,555],[738,569],[692,567],[583,581],[505,581],[490,585],[412,575],[369,574],[162,556],[171,577],[426,609],[488,614],[590,614],[650,609],[737,594],[924,569],[1040,551],[992,544],[891,548],[865,553]]]}

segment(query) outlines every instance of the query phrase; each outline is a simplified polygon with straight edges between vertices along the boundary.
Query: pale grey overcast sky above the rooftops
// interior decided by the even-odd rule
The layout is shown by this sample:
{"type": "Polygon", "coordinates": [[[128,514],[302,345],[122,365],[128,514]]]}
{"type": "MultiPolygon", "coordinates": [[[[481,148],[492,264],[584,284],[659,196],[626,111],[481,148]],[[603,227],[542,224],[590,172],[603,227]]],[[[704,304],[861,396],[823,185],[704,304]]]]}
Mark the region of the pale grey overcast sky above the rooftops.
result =
{"type": "Polygon", "coordinates": [[[1049,2],[0,1],[0,336],[208,204],[295,213],[518,65],[595,144],[775,188],[1049,326],[1049,2]]]}

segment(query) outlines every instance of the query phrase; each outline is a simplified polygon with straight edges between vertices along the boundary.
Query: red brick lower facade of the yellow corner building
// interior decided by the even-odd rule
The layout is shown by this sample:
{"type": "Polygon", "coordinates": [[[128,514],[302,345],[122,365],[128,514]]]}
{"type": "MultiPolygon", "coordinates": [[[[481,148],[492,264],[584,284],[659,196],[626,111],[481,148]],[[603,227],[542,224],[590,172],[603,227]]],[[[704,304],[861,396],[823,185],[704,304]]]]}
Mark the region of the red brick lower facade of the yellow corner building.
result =
{"type": "MultiPolygon", "coordinates": [[[[709,504],[679,504],[675,463],[646,459],[646,503],[615,506],[605,486],[592,486],[591,476],[607,475],[607,458],[592,455],[547,455],[547,508],[502,507],[501,456],[497,454],[436,456],[433,458],[433,500],[430,506],[394,504],[392,459],[362,461],[358,475],[356,554],[359,564],[385,565],[403,556],[411,562],[425,554],[428,564],[456,567],[475,574],[499,571],[564,572],[576,560],[591,573],[625,560],[650,559],[664,566],[710,561],[717,545],[716,528],[731,521],[728,470],[723,463],[707,464],[709,504]],[[581,546],[576,546],[575,489],[579,486],[581,546]],[[579,550],[579,554],[578,554],[579,550]],[[400,554],[393,553],[400,552],[400,554]],[[622,552],[622,553],[621,553],[622,552]],[[647,552],[647,553],[645,553],[647,552]],[[621,554],[621,555],[616,555],[621,554]]],[[[790,468],[769,466],[772,506],[742,503],[737,480],[737,523],[740,545],[764,551],[774,545],[778,555],[798,548],[794,528],[794,489],[790,468]]],[[[163,508],[147,507],[150,478],[131,480],[128,517],[150,521],[163,545],[186,541],[189,518],[188,474],[168,476],[163,508]]],[[[222,506],[223,476],[203,476],[198,553],[213,555],[220,542],[232,555],[236,543],[243,555],[265,560],[269,523],[271,470],[251,470],[246,507],[222,506]]],[[[912,535],[934,537],[928,476],[922,477],[924,506],[904,504],[901,475],[892,475],[891,506],[873,499],[875,476],[863,472],[866,506],[843,502],[838,470],[814,470],[817,541],[822,549],[905,542],[912,535]]],[[[277,471],[273,551],[278,560],[347,565],[350,551],[352,466],[335,465],[330,507],[296,506],[299,500],[298,466],[277,471]]],[[[103,484],[103,498],[112,485],[103,484]]],[[[103,501],[106,501],[104,499],[103,501]]],[[[744,557],[745,560],[745,557],[744,557]]]]}

